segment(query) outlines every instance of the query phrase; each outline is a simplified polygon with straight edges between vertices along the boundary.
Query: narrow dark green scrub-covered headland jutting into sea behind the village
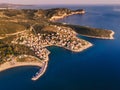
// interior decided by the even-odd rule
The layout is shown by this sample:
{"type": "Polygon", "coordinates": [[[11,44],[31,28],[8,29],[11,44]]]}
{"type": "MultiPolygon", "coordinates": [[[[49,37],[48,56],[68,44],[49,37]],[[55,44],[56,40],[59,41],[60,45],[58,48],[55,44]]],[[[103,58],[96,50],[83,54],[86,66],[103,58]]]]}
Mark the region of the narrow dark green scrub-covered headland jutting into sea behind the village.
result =
{"type": "Polygon", "coordinates": [[[70,27],[80,35],[91,36],[91,37],[109,38],[112,32],[111,30],[92,28],[92,27],[80,26],[80,25],[62,24],[62,23],[57,23],[57,22],[55,23],[51,22],[51,24],[57,25],[57,26],[70,27]]]}

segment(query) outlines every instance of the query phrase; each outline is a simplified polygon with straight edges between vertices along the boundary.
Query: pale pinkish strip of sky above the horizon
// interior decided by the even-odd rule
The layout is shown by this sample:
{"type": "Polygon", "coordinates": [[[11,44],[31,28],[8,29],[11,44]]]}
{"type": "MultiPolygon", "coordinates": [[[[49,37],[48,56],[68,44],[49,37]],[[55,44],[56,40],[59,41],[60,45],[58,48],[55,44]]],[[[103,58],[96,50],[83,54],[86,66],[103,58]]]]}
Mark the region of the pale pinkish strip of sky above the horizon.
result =
{"type": "Polygon", "coordinates": [[[13,4],[120,4],[120,0],[0,0],[13,4]]]}

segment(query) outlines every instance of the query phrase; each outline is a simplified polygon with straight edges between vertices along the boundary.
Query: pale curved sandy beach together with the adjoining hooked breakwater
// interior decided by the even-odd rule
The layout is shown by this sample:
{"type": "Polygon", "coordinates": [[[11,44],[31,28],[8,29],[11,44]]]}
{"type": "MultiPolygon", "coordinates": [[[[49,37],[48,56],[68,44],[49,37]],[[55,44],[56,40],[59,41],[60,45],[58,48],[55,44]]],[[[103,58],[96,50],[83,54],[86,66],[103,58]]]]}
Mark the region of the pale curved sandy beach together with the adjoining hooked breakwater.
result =
{"type": "MultiPolygon", "coordinates": [[[[32,58],[33,56],[27,56],[32,58]]],[[[37,60],[37,58],[35,58],[37,60]]],[[[36,77],[32,77],[31,80],[37,80],[39,79],[46,71],[47,66],[48,66],[48,57],[47,60],[45,61],[32,61],[32,62],[17,62],[16,59],[9,61],[9,62],[5,62],[4,64],[0,65],[0,72],[11,69],[11,68],[15,68],[15,67],[20,67],[20,66],[37,66],[40,68],[40,72],[38,73],[38,75],[36,77]]]]}

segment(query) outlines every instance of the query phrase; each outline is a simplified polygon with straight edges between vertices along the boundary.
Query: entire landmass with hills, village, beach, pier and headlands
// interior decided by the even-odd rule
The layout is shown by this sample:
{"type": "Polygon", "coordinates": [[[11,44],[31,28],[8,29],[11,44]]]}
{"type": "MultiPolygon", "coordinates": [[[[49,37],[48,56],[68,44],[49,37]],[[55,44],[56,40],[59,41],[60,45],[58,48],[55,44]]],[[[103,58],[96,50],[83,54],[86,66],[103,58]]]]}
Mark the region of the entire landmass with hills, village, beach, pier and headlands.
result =
{"type": "Polygon", "coordinates": [[[58,23],[56,20],[85,14],[85,10],[54,9],[0,9],[0,72],[17,66],[38,66],[32,80],[41,77],[48,65],[49,46],[81,52],[92,43],[78,38],[113,39],[112,30],[58,23]]]}

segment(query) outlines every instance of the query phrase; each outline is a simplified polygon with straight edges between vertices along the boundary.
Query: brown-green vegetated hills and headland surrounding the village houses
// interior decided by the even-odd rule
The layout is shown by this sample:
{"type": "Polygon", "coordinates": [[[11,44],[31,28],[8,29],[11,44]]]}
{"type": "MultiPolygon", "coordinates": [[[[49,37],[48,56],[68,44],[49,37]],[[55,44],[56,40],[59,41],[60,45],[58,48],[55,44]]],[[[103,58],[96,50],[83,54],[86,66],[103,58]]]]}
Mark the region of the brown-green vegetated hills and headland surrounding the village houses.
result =
{"type": "MultiPolygon", "coordinates": [[[[66,28],[70,28],[70,30],[76,31],[81,35],[101,38],[110,37],[111,31],[109,30],[102,30],[79,25],[68,25],[50,21],[50,19],[54,16],[61,16],[63,14],[67,15],[78,11],[83,10],[80,9],[74,11],[66,8],[55,8],[47,10],[0,10],[0,63],[4,63],[7,60],[6,58],[10,57],[11,55],[18,56],[21,54],[27,54],[35,56],[34,52],[25,45],[11,44],[11,41],[19,36],[18,33],[24,30],[27,32],[32,31],[34,34],[42,33],[43,38],[46,38],[47,35],[51,38],[57,33],[57,28],[55,26],[64,26],[66,28]]],[[[60,32],[60,34],[63,34],[63,36],[66,35],[66,33],[67,32],[60,32]]],[[[57,38],[56,41],[60,41],[59,38],[57,38]]],[[[72,41],[74,40],[68,40],[68,42],[72,41]]]]}

